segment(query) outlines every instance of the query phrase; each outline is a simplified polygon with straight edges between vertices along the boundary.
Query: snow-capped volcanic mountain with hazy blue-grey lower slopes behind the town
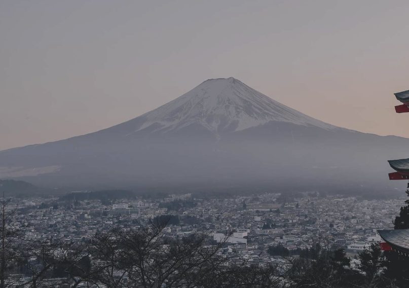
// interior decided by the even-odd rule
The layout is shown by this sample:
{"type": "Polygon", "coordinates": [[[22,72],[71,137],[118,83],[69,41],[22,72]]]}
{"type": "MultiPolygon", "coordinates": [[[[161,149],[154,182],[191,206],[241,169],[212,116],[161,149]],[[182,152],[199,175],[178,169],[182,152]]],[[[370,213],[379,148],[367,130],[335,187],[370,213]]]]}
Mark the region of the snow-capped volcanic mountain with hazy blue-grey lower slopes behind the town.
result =
{"type": "Polygon", "coordinates": [[[234,78],[210,79],[125,123],[1,151],[0,177],[88,189],[382,193],[400,187],[386,161],[408,145],[324,123],[234,78]]]}

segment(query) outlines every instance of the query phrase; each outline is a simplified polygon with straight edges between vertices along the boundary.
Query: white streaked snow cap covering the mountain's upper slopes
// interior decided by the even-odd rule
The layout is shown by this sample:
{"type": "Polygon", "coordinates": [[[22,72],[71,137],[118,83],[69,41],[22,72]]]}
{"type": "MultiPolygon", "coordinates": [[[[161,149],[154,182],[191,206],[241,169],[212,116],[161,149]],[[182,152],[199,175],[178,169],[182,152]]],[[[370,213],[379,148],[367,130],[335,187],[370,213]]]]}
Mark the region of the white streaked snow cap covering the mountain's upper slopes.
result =
{"type": "Polygon", "coordinates": [[[337,128],[295,111],[234,78],[209,79],[141,117],[146,121],[136,131],[155,124],[150,127],[154,128],[153,131],[168,132],[199,123],[217,134],[244,130],[269,121],[337,128]]]}

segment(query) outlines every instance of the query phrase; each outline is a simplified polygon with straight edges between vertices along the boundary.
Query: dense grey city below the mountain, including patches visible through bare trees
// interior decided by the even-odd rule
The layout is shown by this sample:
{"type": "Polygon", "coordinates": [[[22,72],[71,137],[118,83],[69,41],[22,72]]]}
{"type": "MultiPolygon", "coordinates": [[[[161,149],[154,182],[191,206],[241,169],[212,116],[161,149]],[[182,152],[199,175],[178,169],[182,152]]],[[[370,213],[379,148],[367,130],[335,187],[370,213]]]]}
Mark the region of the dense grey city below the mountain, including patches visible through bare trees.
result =
{"type": "MultiPolygon", "coordinates": [[[[374,248],[371,244],[378,246],[381,241],[377,230],[393,229],[393,220],[405,200],[365,200],[317,192],[264,193],[230,198],[204,196],[203,199],[193,195],[172,194],[143,199],[129,191],[76,191],[61,197],[4,198],[4,211],[10,217],[4,221],[7,225],[2,231],[6,234],[8,230],[17,231],[18,237],[23,239],[20,241],[40,243],[40,246],[27,249],[23,263],[9,265],[7,277],[12,281],[9,286],[114,287],[103,281],[82,278],[83,273],[67,268],[76,267],[85,258],[91,261],[87,264],[89,267],[105,262],[93,258],[95,251],[84,254],[82,250],[78,258],[69,258],[73,262],[64,264],[61,260],[53,260],[53,265],[47,261],[61,251],[71,255],[72,251],[79,249],[75,245],[93,243],[105,237],[101,235],[116,238],[118,235],[114,237],[112,234],[114,230],[143,231],[144,227],[156,227],[159,220],[166,219],[160,235],[155,237],[167,239],[166,242],[173,239],[176,243],[190,235],[204,235],[203,247],[206,251],[209,247],[214,249],[214,257],[224,259],[224,265],[237,271],[240,265],[244,265],[240,269],[275,267],[279,269],[279,272],[275,270],[273,277],[276,286],[292,287],[294,281],[286,284],[277,275],[281,277],[288,273],[288,269],[294,266],[293,259],[305,257],[303,253],[314,250],[318,241],[328,251],[345,251],[343,257],[347,259],[348,267],[356,270],[362,267],[362,254],[374,248]],[[52,254],[48,250],[50,247],[54,247],[52,254]],[[49,253],[47,257],[38,254],[39,250],[45,253],[44,249],[49,253]],[[57,273],[58,265],[63,265],[65,270],[57,273]]],[[[9,239],[8,236],[5,238],[9,239]]],[[[21,242],[13,245],[20,247],[21,242]]],[[[149,257],[156,253],[158,251],[151,251],[149,257]]],[[[63,258],[68,261],[66,256],[63,258]]],[[[121,278],[118,273],[125,271],[119,266],[114,270],[116,276],[113,279],[121,278]]],[[[130,272],[123,275],[130,277],[130,272]]],[[[127,287],[129,280],[123,277],[125,280],[119,281],[118,287],[127,287]]],[[[167,281],[162,287],[171,286],[167,281]]],[[[184,281],[178,286],[188,287],[184,281]]]]}

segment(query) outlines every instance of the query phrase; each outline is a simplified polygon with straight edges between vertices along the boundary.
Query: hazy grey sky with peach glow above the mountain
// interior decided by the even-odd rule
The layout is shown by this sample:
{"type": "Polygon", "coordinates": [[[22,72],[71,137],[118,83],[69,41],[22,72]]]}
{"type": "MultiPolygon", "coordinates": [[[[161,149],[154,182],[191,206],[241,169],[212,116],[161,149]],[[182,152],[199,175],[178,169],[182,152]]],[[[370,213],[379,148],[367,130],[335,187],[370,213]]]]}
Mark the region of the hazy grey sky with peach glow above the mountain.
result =
{"type": "Polygon", "coordinates": [[[0,150],[85,134],[234,77],[409,137],[408,1],[0,1],[0,150]]]}

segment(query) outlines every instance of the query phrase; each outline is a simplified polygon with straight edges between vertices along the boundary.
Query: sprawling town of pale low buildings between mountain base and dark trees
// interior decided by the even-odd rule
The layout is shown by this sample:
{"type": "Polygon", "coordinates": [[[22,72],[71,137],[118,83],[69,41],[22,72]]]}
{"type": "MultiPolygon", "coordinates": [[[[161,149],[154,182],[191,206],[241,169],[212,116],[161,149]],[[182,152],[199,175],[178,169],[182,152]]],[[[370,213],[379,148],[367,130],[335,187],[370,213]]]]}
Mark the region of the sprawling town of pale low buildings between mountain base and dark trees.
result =
{"type": "Polygon", "coordinates": [[[226,199],[196,199],[183,194],[155,200],[76,200],[88,193],[71,193],[71,200],[51,196],[12,199],[8,209],[17,206],[13,221],[25,227],[25,238],[50,243],[87,240],[112,227],[137,228],[169,215],[167,236],[206,232],[216,243],[231,232],[219,253],[264,265],[282,261],[283,255],[274,247],[292,255],[311,247],[317,237],[325,239],[332,249],[344,248],[356,259],[364,248],[381,240],[378,229],[393,229],[393,219],[404,204],[403,198],[362,200],[320,196],[317,192],[226,199]]]}

